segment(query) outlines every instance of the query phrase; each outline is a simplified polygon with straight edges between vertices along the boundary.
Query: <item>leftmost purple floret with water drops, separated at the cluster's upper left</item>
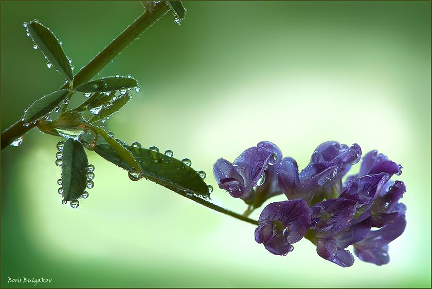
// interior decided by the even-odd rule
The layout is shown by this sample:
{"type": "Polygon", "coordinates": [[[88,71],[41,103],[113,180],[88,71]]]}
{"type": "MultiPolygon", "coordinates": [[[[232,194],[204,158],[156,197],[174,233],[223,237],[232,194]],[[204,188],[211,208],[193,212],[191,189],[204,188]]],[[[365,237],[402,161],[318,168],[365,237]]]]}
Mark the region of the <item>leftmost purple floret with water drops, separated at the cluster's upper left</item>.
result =
{"type": "Polygon", "coordinates": [[[241,198],[245,201],[254,199],[254,187],[263,184],[269,196],[278,190],[272,179],[276,180],[275,169],[272,168],[277,162],[278,155],[282,157],[279,148],[270,142],[260,142],[258,146],[250,147],[231,164],[221,158],[214,163],[213,172],[220,188],[225,189],[234,198],[241,198]],[[266,170],[268,169],[268,172],[266,170]],[[266,180],[266,176],[270,180],[266,180]]]}

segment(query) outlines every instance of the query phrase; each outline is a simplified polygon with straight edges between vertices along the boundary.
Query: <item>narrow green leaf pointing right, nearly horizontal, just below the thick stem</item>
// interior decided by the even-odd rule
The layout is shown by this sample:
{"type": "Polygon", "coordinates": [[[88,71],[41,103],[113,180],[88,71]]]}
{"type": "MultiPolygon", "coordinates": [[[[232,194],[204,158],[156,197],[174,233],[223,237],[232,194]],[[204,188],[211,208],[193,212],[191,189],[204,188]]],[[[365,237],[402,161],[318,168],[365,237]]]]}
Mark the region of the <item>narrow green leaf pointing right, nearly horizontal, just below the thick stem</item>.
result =
{"type": "Polygon", "coordinates": [[[108,78],[102,78],[83,83],[81,85],[78,85],[75,89],[81,92],[103,92],[125,88],[134,88],[136,86],[138,86],[138,82],[136,79],[128,78],[125,76],[111,76],[108,78]]]}

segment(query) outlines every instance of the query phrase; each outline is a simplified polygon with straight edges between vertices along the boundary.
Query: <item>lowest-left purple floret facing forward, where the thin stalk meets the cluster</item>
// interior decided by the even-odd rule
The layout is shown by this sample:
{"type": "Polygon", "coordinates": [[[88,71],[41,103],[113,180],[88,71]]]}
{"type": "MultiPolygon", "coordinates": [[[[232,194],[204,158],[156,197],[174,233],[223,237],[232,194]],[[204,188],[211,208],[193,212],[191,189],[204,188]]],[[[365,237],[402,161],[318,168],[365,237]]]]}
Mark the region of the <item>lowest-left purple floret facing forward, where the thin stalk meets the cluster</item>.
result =
{"type": "Polygon", "coordinates": [[[308,204],[301,199],[275,202],[267,205],[258,219],[255,240],[275,255],[293,251],[294,243],[306,234],[311,213],[308,204]]]}

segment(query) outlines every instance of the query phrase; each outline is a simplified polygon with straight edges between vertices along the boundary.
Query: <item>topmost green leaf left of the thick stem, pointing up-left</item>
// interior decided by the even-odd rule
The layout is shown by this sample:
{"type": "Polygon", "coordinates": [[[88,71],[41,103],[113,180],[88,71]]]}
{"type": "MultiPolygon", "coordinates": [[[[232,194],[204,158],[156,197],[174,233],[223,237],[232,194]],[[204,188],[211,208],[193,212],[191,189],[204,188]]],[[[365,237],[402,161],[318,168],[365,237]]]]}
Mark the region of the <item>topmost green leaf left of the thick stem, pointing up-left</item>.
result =
{"type": "Polygon", "coordinates": [[[74,73],[57,37],[37,20],[27,24],[28,32],[48,61],[63,74],[68,81],[74,80],[74,73]]]}

